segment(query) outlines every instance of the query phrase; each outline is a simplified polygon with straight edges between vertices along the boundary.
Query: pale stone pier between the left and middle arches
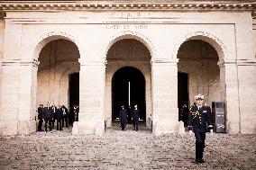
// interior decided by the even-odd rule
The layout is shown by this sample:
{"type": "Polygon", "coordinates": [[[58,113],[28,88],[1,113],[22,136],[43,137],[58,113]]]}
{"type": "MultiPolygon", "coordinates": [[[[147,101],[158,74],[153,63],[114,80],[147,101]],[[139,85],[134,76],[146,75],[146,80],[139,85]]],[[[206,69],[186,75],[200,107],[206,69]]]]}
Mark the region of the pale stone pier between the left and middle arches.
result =
{"type": "Polygon", "coordinates": [[[105,61],[79,59],[79,120],[74,135],[102,135],[105,132],[105,61]]]}

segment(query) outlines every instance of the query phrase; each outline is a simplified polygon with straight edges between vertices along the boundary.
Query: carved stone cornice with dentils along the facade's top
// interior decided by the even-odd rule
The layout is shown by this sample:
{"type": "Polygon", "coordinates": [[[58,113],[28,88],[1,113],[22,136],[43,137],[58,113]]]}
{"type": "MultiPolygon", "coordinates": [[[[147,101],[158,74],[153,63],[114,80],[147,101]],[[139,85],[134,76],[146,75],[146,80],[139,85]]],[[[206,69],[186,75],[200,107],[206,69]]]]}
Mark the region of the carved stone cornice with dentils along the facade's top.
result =
{"type": "Polygon", "coordinates": [[[220,3],[220,2],[190,2],[190,3],[136,3],[112,1],[2,1],[0,11],[82,11],[82,10],[170,10],[170,11],[255,11],[256,2],[252,3],[220,3]]]}

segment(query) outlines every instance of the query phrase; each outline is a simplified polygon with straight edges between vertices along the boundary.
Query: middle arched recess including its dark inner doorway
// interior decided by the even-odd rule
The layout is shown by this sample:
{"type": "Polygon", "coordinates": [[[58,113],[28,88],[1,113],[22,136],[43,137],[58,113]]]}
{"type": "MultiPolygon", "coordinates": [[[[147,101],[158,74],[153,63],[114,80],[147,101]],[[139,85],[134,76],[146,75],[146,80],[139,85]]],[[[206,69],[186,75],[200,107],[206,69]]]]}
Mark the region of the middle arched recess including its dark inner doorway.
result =
{"type": "MultiPolygon", "coordinates": [[[[144,93],[142,94],[143,97],[135,97],[138,98],[136,100],[140,102],[134,100],[133,96],[135,95],[133,94],[132,96],[131,94],[131,100],[134,100],[131,101],[131,104],[134,102],[141,105],[139,105],[143,112],[141,119],[146,122],[148,128],[151,128],[151,52],[143,42],[143,40],[134,35],[125,35],[123,39],[120,37],[117,41],[114,40],[114,44],[112,44],[107,51],[107,64],[105,69],[105,120],[107,127],[111,127],[113,120],[117,117],[117,114],[113,112],[119,111],[120,104],[127,103],[128,100],[128,97],[126,97],[126,102],[119,102],[118,104],[116,103],[118,106],[114,106],[113,84],[118,82],[115,81],[115,79],[123,79],[124,77],[122,77],[122,75],[126,75],[127,77],[131,75],[132,80],[134,78],[140,81],[143,80],[141,81],[143,83],[140,83],[142,87],[137,86],[136,89],[142,89],[140,91],[144,93]],[[115,76],[117,78],[114,78],[115,76]],[[113,106],[115,108],[113,108],[113,106]]],[[[126,85],[128,85],[128,83],[126,83],[126,85]]],[[[128,86],[123,86],[123,88],[128,90],[128,86]]],[[[131,90],[132,88],[133,85],[131,84],[131,90]]],[[[126,93],[128,93],[128,91],[126,91],[126,93]]],[[[127,105],[129,105],[129,103],[127,105]]]]}

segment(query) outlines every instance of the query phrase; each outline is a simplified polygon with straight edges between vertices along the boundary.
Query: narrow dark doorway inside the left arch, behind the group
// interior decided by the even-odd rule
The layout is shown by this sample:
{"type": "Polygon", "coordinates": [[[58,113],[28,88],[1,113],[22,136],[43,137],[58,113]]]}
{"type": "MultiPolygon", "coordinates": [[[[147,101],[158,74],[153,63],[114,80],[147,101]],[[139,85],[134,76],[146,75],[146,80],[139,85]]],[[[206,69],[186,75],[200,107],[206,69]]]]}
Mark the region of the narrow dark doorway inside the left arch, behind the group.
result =
{"type": "Polygon", "coordinates": [[[79,73],[69,75],[69,107],[79,105],[79,73]]]}

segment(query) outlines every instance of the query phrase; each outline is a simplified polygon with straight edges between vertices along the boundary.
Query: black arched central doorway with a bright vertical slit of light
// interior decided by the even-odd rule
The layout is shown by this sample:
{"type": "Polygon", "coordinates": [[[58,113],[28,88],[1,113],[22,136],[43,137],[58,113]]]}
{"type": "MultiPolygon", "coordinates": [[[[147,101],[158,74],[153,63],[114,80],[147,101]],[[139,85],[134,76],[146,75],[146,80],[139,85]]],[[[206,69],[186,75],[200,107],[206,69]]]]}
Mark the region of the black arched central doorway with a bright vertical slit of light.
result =
{"type": "Polygon", "coordinates": [[[146,121],[145,103],[145,79],[142,72],[134,67],[123,67],[114,73],[112,79],[112,121],[119,117],[120,107],[123,104],[129,106],[129,82],[130,105],[138,104],[141,111],[140,119],[146,121]]]}

